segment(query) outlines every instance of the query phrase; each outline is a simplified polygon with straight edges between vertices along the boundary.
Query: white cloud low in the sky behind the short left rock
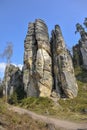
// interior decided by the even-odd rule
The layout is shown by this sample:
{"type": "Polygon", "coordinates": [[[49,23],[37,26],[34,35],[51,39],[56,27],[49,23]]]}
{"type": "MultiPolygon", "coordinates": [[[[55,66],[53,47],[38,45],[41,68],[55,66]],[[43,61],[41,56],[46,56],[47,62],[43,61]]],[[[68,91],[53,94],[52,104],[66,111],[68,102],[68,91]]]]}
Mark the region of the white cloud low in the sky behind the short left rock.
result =
{"type": "MultiPolygon", "coordinates": [[[[20,70],[22,70],[22,67],[23,67],[22,64],[15,64],[15,63],[12,63],[12,64],[15,65],[16,67],[18,66],[20,68],[20,70]]],[[[6,63],[4,63],[4,62],[0,63],[0,78],[1,79],[4,76],[5,67],[6,67],[6,63]]]]}

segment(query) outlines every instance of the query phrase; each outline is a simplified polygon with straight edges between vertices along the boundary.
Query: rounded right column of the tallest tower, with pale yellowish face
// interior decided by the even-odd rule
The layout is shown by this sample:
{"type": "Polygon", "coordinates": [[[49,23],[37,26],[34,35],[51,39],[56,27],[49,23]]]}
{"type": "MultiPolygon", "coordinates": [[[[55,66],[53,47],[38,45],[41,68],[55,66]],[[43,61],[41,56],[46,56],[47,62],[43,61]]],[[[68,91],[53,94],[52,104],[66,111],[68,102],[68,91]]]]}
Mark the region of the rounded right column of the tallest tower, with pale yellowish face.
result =
{"type": "Polygon", "coordinates": [[[51,52],[48,29],[44,21],[36,20],[37,50],[37,75],[40,96],[49,97],[52,89],[51,52]]]}

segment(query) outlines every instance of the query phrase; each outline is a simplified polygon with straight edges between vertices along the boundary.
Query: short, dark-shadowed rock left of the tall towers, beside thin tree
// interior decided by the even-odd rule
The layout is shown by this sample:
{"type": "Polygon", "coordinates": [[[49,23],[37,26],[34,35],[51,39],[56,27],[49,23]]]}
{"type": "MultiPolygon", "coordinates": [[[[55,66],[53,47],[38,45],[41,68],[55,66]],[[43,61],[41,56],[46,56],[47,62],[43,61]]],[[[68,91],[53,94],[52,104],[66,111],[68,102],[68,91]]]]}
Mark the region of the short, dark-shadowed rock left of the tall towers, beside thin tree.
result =
{"type": "Polygon", "coordinates": [[[3,79],[3,94],[4,95],[6,95],[6,87],[7,87],[8,95],[12,95],[13,92],[18,92],[18,89],[20,90],[20,93],[23,91],[22,72],[20,71],[18,67],[15,67],[12,64],[7,65],[5,69],[5,76],[3,79]]]}

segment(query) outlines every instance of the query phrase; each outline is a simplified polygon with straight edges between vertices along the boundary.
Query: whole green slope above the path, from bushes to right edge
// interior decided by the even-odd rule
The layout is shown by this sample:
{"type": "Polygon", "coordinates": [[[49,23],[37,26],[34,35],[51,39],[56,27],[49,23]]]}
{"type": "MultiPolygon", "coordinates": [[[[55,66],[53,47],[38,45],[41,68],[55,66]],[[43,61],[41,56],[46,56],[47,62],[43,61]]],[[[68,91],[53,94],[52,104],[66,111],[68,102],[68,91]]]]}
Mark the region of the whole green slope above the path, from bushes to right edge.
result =
{"type": "Polygon", "coordinates": [[[63,98],[56,103],[49,98],[28,97],[20,106],[39,114],[61,119],[87,121],[87,71],[75,68],[78,83],[78,96],[74,99],[63,98]]]}

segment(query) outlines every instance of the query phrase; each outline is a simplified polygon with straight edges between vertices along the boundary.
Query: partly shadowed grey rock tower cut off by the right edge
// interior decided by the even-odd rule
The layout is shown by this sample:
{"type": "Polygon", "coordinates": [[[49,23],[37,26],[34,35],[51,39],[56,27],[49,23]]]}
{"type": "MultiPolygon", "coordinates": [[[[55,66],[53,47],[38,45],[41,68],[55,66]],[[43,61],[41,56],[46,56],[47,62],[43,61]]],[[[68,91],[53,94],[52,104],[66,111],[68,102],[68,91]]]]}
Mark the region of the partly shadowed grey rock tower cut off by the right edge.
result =
{"type": "Polygon", "coordinates": [[[81,34],[78,44],[73,47],[73,61],[75,66],[82,66],[87,70],[87,33],[81,34]]]}

